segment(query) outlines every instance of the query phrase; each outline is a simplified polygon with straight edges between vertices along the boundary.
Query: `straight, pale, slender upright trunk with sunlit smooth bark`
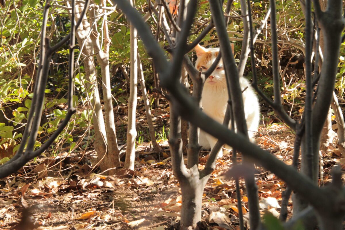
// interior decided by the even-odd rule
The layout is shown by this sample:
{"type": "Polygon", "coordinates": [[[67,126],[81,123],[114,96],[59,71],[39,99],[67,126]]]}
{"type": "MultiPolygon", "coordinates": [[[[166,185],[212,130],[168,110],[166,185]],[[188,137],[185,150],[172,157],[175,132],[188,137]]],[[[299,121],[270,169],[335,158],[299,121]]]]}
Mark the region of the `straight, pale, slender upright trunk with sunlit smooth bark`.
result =
{"type": "MultiPolygon", "coordinates": [[[[132,6],[135,5],[134,0],[129,0],[132,6]]],[[[128,127],[127,127],[127,149],[125,168],[134,170],[135,160],[135,138],[137,130],[135,128],[135,114],[137,108],[138,95],[138,61],[137,61],[137,30],[130,25],[130,93],[128,98],[128,127]]]]}

